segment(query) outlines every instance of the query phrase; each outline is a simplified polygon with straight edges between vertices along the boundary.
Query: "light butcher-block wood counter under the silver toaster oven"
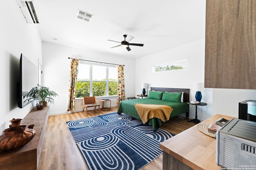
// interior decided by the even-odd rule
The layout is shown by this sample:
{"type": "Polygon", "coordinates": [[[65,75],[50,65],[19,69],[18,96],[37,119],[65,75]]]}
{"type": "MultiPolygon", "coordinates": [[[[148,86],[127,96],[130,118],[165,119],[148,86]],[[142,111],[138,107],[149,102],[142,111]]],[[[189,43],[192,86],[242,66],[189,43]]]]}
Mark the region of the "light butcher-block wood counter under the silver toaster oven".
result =
{"type": "MultiPolygon", "coordinates": [[[[211,124],[221,117],[232,118],[217,114],[200,124],[211,124]]],[[[216,139],[200,132],[197,125],[160,143],[163,170],[221,170],[216,164],[216,139]]]]}

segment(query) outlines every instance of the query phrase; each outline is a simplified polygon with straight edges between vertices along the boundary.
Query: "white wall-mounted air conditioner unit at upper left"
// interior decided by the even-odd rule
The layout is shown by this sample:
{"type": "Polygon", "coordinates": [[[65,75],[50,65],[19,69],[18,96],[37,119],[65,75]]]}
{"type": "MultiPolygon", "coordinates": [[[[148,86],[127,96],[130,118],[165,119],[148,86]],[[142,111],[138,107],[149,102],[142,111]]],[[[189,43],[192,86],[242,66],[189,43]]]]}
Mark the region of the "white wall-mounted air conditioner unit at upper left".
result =
{"type": "Polygon", "coordinates": [[[27,23],[39,23],[33,0],[16,0],[27,23]]]}

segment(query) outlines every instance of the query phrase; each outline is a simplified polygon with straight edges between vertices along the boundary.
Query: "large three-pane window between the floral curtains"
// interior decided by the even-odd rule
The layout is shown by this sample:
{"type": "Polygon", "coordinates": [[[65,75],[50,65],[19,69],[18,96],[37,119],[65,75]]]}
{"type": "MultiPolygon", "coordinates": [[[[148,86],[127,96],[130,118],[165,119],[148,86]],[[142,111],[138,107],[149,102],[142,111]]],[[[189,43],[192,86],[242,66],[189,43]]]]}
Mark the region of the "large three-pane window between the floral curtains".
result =
{"type": "Polygon", "coordinates": [[[117,79],[116,66],[79,62],[75,97],[116,96],[117,79]]]}

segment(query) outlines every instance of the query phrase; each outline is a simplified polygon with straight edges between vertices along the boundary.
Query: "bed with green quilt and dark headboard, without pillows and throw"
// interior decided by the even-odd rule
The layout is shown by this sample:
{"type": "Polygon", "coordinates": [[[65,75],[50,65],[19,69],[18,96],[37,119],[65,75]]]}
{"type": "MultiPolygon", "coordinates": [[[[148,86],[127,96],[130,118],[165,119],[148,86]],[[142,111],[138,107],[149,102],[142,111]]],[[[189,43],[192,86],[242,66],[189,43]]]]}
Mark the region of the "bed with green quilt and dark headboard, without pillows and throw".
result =
{"type": "MultiPolygon", "coordinates": [[[[153,99],[153,98],[142,98],[142,99],[132,99],[132,100],[123,100],[119,107],[117,113],[121,115],[122,113],[125,113],[126,115],[130,115],[136,119],[141,120],[140,116],[138,115],[138,112],[135,108],[135,104],[156,104],[156,105],[166,105],[173,108],[170,117],[174,117],[177,115],[180,115],[182,113],[186,113],[186,117],[189,117],[189,106],[186,102],[189,102],[189,93],[190,89],[186,88],[157,88],[157,87],[151,87],[151,91],[156,92],[172,92],[172,93],[180,93],[183,92],[183,102],[170,102],[166,100],[159,100],[159,99],[153,99]]],[[[151,92],[152,94],[152,92],[151,92]]],[[[154,131],[157,131],[157,129],[162,125],[161,119],[157,117],[153,117],[148,120],[148,124],[153,127],[154,131]]]]}

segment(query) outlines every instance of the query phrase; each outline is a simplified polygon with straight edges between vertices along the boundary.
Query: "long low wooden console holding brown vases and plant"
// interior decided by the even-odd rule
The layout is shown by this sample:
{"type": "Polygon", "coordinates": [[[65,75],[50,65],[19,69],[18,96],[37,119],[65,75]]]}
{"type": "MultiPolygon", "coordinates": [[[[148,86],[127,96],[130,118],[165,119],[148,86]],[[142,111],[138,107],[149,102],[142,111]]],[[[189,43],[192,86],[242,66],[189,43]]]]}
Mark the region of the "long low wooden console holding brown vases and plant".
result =
{"type": "MultiPolygon", "coordinates": [[[[34,107],[34,111],[30,111],[28,115],[26,115],[26,117],[22,119],[22,125],[28,126],[34,124],[33,129],[36,131],[36,135],[27,145],[19,150],[15,150],[12,152],[0,151],[1,170],[37,169],[44,139],[44,132],[48,121],[48,115],[48,106],[44,107],[44,109],[42,110],[37,110],[36,107],[34,107]]],[[[15,118],[17,119],[19,117],[15,118]]]]}

